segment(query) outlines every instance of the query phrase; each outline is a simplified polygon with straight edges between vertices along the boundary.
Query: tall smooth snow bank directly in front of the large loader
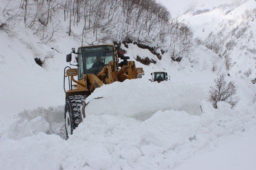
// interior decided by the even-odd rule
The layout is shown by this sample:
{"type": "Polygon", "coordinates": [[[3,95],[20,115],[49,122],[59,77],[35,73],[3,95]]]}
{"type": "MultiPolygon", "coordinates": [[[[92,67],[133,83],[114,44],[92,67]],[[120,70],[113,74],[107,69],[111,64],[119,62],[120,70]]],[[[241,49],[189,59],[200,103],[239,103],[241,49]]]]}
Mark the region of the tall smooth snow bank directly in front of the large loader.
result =
{"type": "Polygon", "coordinates": [[[180,110],[200,115],[206,91],[196,85],[135,79],[97,88],[86,99],[86,115],[117,114],[147,119],[162,110],[180,110]]]}

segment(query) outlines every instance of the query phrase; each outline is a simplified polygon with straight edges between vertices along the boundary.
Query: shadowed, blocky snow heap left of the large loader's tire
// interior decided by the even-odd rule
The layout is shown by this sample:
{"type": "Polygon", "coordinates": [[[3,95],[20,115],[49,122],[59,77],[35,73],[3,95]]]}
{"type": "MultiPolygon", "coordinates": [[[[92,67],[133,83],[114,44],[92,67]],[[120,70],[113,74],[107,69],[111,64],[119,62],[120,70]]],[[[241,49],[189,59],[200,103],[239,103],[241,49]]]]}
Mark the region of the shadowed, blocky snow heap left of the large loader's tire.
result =
{"type": "Polygon", "coordinates": [[[2,138],[20,140],[27,136],[37,135],[41,132],[66,137],[64,127],[64,106],[38,107],[32,111],[24,110],[15,116],[15,122],[10,128],[2,132],[2,138]]]}

